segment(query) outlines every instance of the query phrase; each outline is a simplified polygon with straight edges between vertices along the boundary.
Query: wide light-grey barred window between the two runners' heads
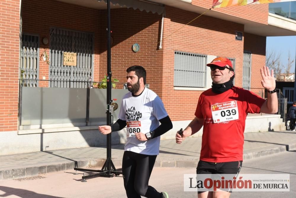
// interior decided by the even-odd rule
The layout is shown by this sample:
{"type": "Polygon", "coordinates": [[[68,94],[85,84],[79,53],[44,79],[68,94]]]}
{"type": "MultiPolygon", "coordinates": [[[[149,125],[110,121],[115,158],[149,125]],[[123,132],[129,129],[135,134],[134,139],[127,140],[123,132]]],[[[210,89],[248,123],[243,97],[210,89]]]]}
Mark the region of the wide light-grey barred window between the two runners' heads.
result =
{"type": "Polygon", "coordinates": [[[206,55],[175,51],[174,86],[205,87],[206,60],[206,55]]]}

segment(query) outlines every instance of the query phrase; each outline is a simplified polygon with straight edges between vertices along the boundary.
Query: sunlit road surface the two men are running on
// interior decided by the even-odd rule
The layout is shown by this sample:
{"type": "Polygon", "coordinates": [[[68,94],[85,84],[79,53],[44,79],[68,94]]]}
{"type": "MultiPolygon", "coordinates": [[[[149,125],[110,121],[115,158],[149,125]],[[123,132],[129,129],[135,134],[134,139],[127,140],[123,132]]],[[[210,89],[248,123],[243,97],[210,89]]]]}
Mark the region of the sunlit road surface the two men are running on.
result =
{"type": "MultiPolygon", "coordinates": [[[[290,174],[289,192],[233,192],[231,197],[287,197],[296,195],[296,151],[288,151],[258,159],[245,160],[244,174],[290,174]]],[[[57,172],[34,178],[0,182],[0,197],[126,197],[121,176],[91,178],[81,182],[74,171],[57,172]]],[[[170,198],[196,198],[195,192],[183,191],[183,174],[194,174],[195,168],[155,167],[149,185],[166,191],[170,198]]]]}

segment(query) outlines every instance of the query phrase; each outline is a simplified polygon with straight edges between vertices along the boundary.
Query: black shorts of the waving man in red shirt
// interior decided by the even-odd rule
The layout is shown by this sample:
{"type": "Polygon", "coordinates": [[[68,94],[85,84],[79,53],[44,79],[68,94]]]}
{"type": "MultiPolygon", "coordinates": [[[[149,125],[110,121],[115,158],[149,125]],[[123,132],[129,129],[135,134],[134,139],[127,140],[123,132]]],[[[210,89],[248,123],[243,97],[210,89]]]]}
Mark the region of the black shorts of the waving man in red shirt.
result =
{"type": "MultiPolygon", "coordinates": [[[[196,174],[233,174],[237,176],[241,167],[242,161],[205,162],[200,160],[197,164],[196,174]]],[[[202,192],[204,191],[198,191],[198,193],[202,192]]],[[[231,192],[231,189],[228,192],[231,192]]]]}

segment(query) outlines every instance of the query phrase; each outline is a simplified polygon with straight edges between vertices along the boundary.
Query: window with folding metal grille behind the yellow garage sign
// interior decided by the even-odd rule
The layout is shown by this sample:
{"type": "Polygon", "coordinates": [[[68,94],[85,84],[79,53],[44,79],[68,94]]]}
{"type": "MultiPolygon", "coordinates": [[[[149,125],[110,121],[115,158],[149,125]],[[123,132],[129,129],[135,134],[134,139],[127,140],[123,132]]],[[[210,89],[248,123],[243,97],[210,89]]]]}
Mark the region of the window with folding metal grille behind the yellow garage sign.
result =
{"type": "Polygon", "coordinates": [[[93,77],[93,56],[93,33],[51,28],[49,87],[89,87],[93,77]],[[66,66],[63,64],[64,52],[76,54],[76,66],[66,66]]]}

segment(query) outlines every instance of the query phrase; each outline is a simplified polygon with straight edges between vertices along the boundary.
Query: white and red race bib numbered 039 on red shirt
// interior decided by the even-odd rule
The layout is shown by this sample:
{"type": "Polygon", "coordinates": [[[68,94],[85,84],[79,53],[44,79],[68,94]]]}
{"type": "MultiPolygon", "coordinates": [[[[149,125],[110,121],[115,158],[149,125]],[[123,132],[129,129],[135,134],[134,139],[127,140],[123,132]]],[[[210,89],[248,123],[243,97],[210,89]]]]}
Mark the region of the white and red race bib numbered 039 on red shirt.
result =
{"type": "Polygon", "coordinates": [[[214,123],[226,122],[239,119],[237,101],[218,103],[211,106],[214,123]]]}

